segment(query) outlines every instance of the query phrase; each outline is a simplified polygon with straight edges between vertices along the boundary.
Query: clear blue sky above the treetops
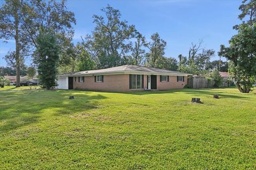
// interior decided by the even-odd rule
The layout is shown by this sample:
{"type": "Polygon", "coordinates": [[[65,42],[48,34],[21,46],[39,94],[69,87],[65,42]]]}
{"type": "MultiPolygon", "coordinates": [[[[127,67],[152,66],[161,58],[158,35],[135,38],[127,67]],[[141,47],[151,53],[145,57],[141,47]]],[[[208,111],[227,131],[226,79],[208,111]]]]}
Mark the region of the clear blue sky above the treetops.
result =
{"type": "MultiPolygon", "coordinates": [[[[122,19],[134,24],[142,35],[149,40],[158,32],[167,42],[165,56],[187,56],[191,43],[204,40],[204,47],[218,52],[221,44],[228,45],[228,40],[235,35],[232,29],[241,23],[237,16],[242,0],[173,0],[173,1],[82,1],[69,0],[67,6],[75,13],[77,24],[74,25],[74,43],[81,41],[80,36],[90,33],[94,24],[92,15],[103,15],[100,11],[107,4],[117,8],[122,19]]],[[[14,48],[14,41],[0,43],[0,65],[6,65],[3,56],[14,48]]],[[[216,53],[212,60],[217,60],[216,53]]],[[[27,58],[26,64],[30,64],[27,58]]]]}

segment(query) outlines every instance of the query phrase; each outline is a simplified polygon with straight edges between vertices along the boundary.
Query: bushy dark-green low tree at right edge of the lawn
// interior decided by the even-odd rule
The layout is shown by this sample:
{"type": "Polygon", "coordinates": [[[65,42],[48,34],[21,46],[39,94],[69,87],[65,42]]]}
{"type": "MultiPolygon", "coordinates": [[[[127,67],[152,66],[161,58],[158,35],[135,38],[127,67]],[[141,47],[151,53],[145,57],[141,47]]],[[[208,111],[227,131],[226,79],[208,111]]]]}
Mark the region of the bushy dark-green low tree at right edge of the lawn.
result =
{"type": "Polygon", "coordinates": [[[229,72],[235,78],[240,92],[250,92],[256,73],[256,24],[241,24],[229,47],[221,45],[220,56],[230,60],[229,72]]]}

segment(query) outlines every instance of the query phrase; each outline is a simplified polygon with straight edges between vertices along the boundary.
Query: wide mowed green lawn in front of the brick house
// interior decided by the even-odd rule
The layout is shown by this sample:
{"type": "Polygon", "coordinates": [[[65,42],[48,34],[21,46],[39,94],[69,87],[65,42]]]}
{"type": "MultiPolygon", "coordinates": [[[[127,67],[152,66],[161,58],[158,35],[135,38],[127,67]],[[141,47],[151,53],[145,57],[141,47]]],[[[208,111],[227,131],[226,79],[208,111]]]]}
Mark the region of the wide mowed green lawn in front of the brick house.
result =
{"type": "Polygon", "coordinates": [[[0,169],[256,168],[254,92],[4,91],[0,106],[0,169]]]}

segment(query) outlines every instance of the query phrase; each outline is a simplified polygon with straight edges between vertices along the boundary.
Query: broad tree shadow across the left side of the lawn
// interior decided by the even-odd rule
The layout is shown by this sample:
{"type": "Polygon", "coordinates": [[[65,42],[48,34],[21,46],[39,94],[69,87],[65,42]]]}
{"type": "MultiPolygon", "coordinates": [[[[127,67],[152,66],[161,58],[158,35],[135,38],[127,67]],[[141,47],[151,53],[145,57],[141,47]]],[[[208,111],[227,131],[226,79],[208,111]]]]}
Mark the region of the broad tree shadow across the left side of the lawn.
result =
{"type": "Polygon", "coordinates": [[[22,91],[0,93],[0,133],[38,122],[45,116],[61,116],[99,107],[105,96],[77,91],[22,91]],[[70,100],[69,96],[75,96],[70,100]]]}

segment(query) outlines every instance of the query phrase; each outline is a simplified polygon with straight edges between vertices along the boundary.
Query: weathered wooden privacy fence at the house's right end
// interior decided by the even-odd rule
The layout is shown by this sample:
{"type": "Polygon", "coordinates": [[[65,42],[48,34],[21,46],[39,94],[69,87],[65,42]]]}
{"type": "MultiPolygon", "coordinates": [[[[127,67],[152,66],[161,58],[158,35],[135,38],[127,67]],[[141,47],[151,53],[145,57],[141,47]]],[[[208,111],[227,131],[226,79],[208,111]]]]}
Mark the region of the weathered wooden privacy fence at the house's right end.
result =
{"type": "Polygon", "coordinates": [[[193,75],[192,77],[188,77],[188,88],[191,89],[213,88],[213,85],[213,79],[206,79],[202,75],[193,75]]]}

